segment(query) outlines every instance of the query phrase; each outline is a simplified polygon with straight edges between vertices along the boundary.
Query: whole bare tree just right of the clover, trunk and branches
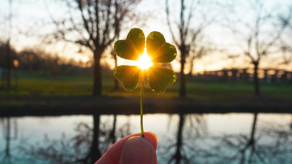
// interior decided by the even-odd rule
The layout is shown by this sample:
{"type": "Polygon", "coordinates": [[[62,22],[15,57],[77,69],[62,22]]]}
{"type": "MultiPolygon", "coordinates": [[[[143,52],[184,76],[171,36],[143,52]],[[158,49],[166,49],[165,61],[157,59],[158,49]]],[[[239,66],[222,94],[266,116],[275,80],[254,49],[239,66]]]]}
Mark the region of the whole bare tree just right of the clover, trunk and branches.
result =
{"type": "MultiPolygon", "coordinates": [[[[187,62],[187,57],[190,55],[192,47],[197,45],[200,36],[203,35],[204,29],[211,24],[214,17],[210,17],[212,13],[210,7],[208,10],[202,10],[202,1],[191,0],[188,1],[190,4],[186,5],[185,1],[181,0],[179,19],[178,21],[171,20],[171,18],[175,18],[173,15],[171,15],[171,13],[175,12],[170,11],[168,0],[165,2],[169,31],[175,46],[180,51],[180,97],[186,97],[184,69],[185,63],[187,62]]],[[[204,3],[208,2],[205,1],[204,3]]]]}

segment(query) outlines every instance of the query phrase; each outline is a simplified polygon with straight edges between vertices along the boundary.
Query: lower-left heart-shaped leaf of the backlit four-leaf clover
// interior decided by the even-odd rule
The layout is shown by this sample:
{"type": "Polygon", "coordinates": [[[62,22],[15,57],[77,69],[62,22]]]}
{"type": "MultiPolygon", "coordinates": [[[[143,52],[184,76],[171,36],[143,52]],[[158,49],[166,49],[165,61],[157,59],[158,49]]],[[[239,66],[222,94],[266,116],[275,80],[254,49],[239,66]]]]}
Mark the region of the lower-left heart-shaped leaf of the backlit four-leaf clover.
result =
{"type": "Polygon", "coordinates": [[[114,78],[123,82],[126,91],[133,91],[138,87],[140,69],[138,66],[121,65],[114,69],[114,78]]]}

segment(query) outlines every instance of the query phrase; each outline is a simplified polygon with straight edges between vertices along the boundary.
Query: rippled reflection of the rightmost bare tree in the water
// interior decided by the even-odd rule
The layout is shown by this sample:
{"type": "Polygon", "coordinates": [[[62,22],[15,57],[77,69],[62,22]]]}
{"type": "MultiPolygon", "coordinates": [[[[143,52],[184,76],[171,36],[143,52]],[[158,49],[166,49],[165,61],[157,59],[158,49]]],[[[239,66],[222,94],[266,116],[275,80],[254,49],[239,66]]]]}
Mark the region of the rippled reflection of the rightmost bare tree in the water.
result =
{"type": "Polygon", "coordinates": [[[256,122],[257,114],[254,114],[250,136],[214,137],[220,142],[205,150],[205,156],[213,158],[216,161],[213,163],[292,163],[292,132],[289,125],[270,123],[256,128],[256,122]]]}

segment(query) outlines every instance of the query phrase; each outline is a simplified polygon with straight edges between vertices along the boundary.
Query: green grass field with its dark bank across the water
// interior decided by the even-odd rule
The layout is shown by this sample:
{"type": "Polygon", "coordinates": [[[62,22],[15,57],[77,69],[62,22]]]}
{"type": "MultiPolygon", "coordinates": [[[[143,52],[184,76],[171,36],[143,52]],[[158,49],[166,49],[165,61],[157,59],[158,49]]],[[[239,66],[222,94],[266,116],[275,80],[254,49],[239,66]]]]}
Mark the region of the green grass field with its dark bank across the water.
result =
{"type": "MultiPolygon", "coordinates": [[[[113,90],[111,73],[103,74],[102,97],[92,97],[92,76],[44,75],[19,72],[18,85],[0,88],[0,116],[46,116],[62,114],[133,114],[139,110],[140,86],[133,92],[113,90]],[[121,110],[123,109],[123,110],[121,110]]],[[[121,83],[120,83],[121,86],[121,83]]],[[[260,97],[249,82],[188,82],[187,98],[179,97],[179,82],[155,95],[147,82],[144,105],[148,113],[291,113],[292,84],[261,84],[260,97]]],[[[138,114],[138,113],[135,113],[138,114]]]]}

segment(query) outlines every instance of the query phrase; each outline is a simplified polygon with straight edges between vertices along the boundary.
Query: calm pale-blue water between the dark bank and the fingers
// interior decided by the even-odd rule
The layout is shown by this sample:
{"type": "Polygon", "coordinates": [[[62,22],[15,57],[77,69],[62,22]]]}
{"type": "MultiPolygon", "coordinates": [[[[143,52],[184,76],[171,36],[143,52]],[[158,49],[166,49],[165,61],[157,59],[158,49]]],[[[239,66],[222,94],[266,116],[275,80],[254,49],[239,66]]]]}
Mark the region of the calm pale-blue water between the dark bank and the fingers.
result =
{"type": "MultiPolygon", "coordinates": [[[[144,130],[154,132],[159,139],[159,163],[171,159],[172,163],[292,163],[292,115],[258,114],[251,139],[254,118],[255,114],[238,113],[146,114],[143,120],[144,130]],[[182,146],[177,146],[179,135],[182,146]],[[182,156],[175,156],[178,148],[182,156]]],[[[113,115],[100,116],[101,153],[111,145],[108,137],[113,121],[113,115]]],[[[26,116],[9,118],[9,122],[11,141],[7,142],[7,118],[1,119],[0,163],[8,158],[12,163],[24,164],[73,163],[76,158],[85,157],[91,146],[93,116],[90,115],[26,116]],[[9,153],[5,151],[7,143],[9,153]]],[[[117,139],[136,132],[140,132],[140,116],[117,116],[117,139]]]]}

